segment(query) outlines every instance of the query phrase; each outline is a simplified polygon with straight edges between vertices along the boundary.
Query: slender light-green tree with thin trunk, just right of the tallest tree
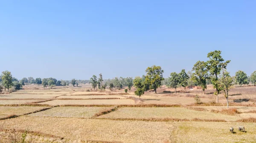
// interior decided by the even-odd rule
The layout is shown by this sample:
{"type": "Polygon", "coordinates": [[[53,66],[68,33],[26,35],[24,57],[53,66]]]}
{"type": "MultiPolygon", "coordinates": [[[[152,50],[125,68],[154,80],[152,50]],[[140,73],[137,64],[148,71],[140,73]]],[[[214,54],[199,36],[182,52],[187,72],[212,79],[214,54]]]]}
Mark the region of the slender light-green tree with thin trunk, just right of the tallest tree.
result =
{"type": "Polygon", "coordinates": [[[220,83],[222,86],[222,89],[224,91],[224,96],[226,97],[227,100],[227,107],[228,107],[228,91],[232,87],[233,83],[233,77],[230,76],[230,73],[227,72],[226,69],[222,71],[221,77],[220,77],[220,83]]]}

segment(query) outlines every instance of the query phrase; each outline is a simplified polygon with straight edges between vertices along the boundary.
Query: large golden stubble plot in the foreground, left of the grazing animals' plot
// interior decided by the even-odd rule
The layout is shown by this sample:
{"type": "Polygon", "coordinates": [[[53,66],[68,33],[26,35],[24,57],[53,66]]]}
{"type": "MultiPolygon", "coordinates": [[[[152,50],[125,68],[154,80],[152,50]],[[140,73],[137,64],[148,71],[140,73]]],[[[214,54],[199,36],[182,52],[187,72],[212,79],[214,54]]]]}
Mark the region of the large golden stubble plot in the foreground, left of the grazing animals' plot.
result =
{"type": "Polygon", "coordinates": [[[0,121],[3,128],[27,129],[70,140],[103,140],[122,143],[163,143],[171,140],[171,122],[111,121],[79,118],[28,117],[0,121]]]}

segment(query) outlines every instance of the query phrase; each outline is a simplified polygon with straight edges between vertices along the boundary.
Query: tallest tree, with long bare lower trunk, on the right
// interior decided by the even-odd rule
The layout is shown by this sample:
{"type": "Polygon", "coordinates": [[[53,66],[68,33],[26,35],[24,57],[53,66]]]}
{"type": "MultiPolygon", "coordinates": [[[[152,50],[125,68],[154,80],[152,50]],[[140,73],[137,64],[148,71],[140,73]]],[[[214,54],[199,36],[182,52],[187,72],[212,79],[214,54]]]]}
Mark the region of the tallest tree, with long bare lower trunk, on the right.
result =
{"type": "Polygon", "coordinates": [[[218,103],[218,94],[221,91],[221,85],[218,82],[218,75],[221,73],[222,69],[226,69],[227,64],[230,63],[230,60],[224,62],[220,50],[215,50],[208,53],[207,57],[209,58],[209,60],[207,61],[207,69],[209,70],[209,73],[211,75],[215,76],[214,78],[212,78],[212,84],[213,88],[216,89],[214,94],[216,95],[216,102],[218,103]]]}

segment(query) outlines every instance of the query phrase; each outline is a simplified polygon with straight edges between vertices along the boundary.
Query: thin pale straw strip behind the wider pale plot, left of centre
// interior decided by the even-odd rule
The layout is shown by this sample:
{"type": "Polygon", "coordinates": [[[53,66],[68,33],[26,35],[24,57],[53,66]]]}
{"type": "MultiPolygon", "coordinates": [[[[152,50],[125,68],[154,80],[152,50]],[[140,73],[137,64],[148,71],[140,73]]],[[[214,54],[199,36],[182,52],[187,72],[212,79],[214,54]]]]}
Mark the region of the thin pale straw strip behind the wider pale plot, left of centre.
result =
{"type": "Polygon", "coordinates": [[[119,95],[62,95],[57,97],[58,99],[61,98],[74,98],[74,99],[93,99],[93,98],[119,98],[125,99],[125,97],[119,95]]]}

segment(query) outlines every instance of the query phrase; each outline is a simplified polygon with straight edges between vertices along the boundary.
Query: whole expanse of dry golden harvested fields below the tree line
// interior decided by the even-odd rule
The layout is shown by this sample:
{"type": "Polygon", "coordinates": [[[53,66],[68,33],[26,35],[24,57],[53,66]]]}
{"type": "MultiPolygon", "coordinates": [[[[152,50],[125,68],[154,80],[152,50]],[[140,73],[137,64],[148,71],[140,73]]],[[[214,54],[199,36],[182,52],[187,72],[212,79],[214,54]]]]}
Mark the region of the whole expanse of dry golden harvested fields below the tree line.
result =
{"type": "Polygon", "coordinates": [[[230,108],[209,87],[161,87],[138,98],[134,89],[91,90],[88,85],[0,94],[0,142],[21,137],[35,143],[253,143],[256,140],[256,87],[230,90],[230,108]],[[202,104],[195,104],[199,95],[202,104]],[[234,133],[229,132],[230,126],[234,133]],[[239,132],[245,126],[246,132],[239,132]],[[210,141],[209,141],[210,140],[210,141]]]}

